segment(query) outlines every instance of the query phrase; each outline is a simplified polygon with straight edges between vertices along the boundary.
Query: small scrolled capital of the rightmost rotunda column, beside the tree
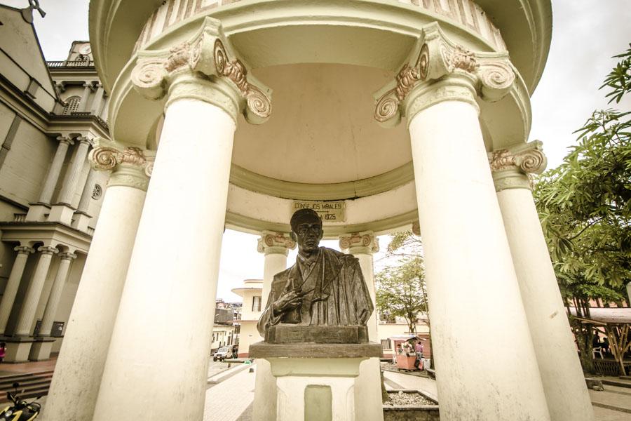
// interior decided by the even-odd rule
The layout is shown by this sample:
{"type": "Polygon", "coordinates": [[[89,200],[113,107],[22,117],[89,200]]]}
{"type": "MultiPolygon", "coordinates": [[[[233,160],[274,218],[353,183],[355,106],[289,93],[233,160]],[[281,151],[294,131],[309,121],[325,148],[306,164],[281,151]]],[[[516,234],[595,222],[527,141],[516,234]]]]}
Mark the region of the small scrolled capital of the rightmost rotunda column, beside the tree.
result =
{"type": "Polygon", "coordinates": [[[489,152],[496,192],[532,188],[529,175],[543,173],[548,163],[542,145],[542,142],[534,140],[510,149],[489,152]]]}

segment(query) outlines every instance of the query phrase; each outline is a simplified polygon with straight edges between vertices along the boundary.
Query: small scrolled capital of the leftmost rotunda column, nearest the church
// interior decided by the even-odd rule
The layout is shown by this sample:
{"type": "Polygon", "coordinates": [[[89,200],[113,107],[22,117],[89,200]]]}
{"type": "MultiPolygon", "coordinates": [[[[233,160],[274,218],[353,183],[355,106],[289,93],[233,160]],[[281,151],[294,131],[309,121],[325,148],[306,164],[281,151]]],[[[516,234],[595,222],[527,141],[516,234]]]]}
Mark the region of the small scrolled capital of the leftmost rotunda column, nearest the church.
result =
{"type": "Polygon", "coordinates": [[[154,168],[154,151],[125,147],[101,138],[96,144],[88,159],[96,171],[111,171],[108,187],[126,186],[147,191],[154,168]]]}

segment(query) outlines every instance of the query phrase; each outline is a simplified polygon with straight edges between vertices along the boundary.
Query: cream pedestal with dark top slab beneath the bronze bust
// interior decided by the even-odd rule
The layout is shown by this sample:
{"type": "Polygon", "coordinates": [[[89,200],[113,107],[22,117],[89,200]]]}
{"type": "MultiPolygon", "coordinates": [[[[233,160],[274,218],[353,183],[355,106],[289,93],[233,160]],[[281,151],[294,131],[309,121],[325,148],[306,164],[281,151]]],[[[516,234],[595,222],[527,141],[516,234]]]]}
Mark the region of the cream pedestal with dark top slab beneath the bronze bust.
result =
{"type": "Polygon", "coordinates": [[[381,356],[381,345],[258,342],[250,356],[269,361],[277,421],[354,421],[355,408],[365,405],[355,399],[355,377],[362,361],[381,356]]]}

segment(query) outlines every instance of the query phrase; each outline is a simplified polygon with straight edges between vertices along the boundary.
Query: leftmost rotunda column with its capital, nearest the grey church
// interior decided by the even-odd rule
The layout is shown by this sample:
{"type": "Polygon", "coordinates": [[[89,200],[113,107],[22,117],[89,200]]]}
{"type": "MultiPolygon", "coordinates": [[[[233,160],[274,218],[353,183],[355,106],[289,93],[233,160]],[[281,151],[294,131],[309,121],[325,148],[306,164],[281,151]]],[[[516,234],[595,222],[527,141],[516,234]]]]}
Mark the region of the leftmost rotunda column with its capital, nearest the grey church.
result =
{"type": "Polygon", "coordinates": [[[98,145],[90,163],[113,170],[83,267],[43,420],[92,420],[149,179],[144,153],[98,145]],[[117,157],[125,161],[117,161],[117,157]],[[107,164],[109,163],[109,165],[107,164]],[[98,309],[98,311],[95,311],[98,309]],[[86,346],[88,344],[88,346],[86,346]]]}

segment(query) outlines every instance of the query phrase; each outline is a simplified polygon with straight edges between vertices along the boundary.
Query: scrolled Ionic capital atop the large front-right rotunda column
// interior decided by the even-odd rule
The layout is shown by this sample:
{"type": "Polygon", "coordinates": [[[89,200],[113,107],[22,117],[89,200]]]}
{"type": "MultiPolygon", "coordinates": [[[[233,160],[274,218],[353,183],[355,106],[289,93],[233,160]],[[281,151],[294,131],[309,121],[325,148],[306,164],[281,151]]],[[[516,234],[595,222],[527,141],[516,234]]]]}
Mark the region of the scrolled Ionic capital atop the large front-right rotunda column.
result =
{"type": "Polygon", "coordinates": [[[374,119],[384,126],[408,122],[423,109],[447,100],[477,107],[477,96],[494,102],[513,88],[515,67],[508,53],[475,53],[447,38],[437,23],[423,27],[396,80],[376,93],[374,119]]]}

